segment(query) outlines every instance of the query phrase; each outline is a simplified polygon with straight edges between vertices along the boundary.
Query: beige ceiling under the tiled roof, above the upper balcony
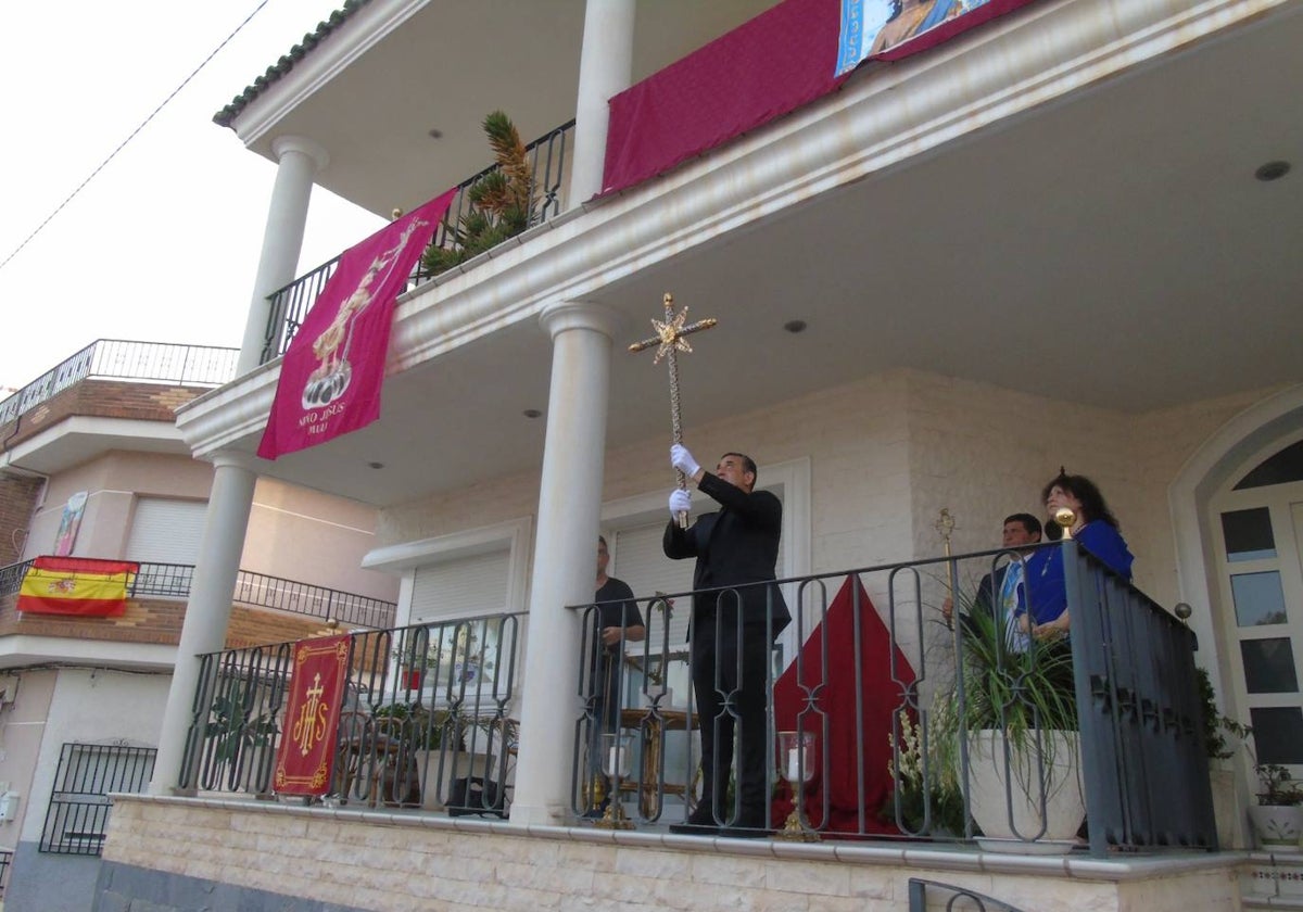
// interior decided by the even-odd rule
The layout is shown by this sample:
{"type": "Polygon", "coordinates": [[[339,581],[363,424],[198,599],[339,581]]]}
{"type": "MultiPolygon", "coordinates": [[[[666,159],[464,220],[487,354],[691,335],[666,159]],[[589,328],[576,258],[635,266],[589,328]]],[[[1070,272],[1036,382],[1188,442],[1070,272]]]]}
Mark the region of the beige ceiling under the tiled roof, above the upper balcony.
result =
{"type": "MultiPolygon", "coordinates": [[[[638,0],[633,79],[640,81],[779,0],[638,0]]],[[[525,142],[575,117],[585,0],[435,0],[311,95],[275,132],[237,133],[275,160],[272,141],[305,135],[330,152],[318,184],[377,215],[410,210],[493,162],[481,126],[503,109],[525,142]],[[366,104],[352,99],[365,98],[366,104]],[[340,111],[347,108],[348,116],[340,111]],[[430,135],[438,130],[439,137],[430,135]]],[[[349,29],[401,3],[371,3],[313,51],[327,56],[349,29]]],[[[300,64],[304,66],[305,64],[300,64]]],[[[250,74],[253,76],[253,74],[250,74]]],[[[285,81],[289,82],[288,79],[285,81]]],[[[278,86],[272,86],[272,93],[278,86]]],[[[271,93],[268,93],[270,95],[271,93]]]]}

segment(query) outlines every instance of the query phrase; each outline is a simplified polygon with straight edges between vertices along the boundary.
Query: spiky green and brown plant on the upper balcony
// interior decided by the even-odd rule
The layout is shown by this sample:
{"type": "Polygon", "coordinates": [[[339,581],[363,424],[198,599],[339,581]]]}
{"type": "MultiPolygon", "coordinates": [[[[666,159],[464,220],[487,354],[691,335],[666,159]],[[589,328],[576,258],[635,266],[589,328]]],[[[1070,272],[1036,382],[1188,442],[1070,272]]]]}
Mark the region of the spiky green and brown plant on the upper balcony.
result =
{"type": "Polygon", "coordinates": [[[466,190],[468,211],[457,225],[444,221],[448,246],[431,244],[421,255],[421,268],[439,275],[508,237],[525,231],[534,218],[534,172],[516,125],[502,111],[483,121],[496,168],[466,190]]]}

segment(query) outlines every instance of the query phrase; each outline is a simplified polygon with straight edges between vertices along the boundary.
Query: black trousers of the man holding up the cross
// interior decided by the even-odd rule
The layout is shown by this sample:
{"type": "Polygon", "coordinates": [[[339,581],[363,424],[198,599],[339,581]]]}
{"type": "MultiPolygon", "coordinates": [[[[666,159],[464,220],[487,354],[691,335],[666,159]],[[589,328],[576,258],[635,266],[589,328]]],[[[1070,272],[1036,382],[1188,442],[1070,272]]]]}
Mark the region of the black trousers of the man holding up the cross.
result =
{"type": "Polygon", "coordinates": [[[692,688],[701,726],[702,770],[698,806],[706,812],[715,808],[719,823],[734,822],[726,796],[736,744],[740,817],[734,823],[760,827],[769,808],[765,782],[769,644],[764,627],[743,627],[740,649],[737,634],[735,625],[722,624],[717,631],[713,623],[698,624],[693,619],[692,688]]]}

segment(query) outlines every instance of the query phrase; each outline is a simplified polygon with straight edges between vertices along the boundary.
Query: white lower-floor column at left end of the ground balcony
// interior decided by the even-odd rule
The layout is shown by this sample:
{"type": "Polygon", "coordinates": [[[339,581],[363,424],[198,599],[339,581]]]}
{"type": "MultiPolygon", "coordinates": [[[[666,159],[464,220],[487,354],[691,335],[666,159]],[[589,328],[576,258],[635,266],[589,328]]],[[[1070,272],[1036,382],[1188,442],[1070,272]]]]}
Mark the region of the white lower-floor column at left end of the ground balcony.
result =
{"type": "MultiPolygon", "coordinates": [[[[201,653],[216,653],[225,645],[231,620],[231,595],[240,572],[253,489],[258,476],[250,459],[219,453],[214,460],[212,492],[199,539],[199,558],[190,582],[190,601],[181,625],[176,670],[163,710],[163,731],[154,763],[150,792],[168,795],[179,782],[185,737],[190,728],[194,688],[199,680],[201,653]]],[[[193,782],[193,778],[192,778],[193,782]]]]}

